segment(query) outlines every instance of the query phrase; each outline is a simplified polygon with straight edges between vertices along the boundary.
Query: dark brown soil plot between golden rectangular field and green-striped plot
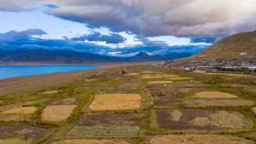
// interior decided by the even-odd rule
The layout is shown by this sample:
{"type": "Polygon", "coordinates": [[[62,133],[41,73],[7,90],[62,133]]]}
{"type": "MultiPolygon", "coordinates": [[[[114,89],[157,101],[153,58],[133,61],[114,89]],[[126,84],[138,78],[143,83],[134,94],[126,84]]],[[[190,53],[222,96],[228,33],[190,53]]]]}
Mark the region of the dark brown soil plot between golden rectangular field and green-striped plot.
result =
{"type": "Polygon", "coordinates": [[[139,125],[144,117],[142,113],[86,113],[78,125],[139,125]]]}

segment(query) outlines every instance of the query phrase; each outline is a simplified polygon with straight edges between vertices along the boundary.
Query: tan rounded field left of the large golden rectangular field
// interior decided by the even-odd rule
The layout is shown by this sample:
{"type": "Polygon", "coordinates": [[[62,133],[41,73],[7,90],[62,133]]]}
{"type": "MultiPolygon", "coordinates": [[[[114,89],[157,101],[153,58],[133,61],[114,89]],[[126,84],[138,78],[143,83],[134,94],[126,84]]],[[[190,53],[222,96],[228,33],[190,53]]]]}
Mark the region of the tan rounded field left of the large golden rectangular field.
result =
{"type": "Polygon", "coordinates": [[[60,122],[66,120],[76,105],[52,105],[47,106],[42,113],[44,122],[60,122]]]}

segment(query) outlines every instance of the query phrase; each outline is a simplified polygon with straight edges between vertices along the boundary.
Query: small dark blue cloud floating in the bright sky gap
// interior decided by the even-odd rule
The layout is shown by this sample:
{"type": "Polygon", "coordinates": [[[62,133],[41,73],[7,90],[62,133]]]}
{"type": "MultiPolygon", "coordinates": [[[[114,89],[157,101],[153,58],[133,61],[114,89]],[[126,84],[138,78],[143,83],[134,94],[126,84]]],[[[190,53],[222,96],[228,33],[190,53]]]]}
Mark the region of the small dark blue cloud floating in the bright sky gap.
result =
{"type": "Polygon", "coordinates": [[[100,33],[93,33],[91,35],[83,35],[76,38],[72,38],[75,41],[91,41],[91,42],[106,42],[106,44],[119,44],[125,42],[125,38],[118,34],[101,35],[100,33]]]}

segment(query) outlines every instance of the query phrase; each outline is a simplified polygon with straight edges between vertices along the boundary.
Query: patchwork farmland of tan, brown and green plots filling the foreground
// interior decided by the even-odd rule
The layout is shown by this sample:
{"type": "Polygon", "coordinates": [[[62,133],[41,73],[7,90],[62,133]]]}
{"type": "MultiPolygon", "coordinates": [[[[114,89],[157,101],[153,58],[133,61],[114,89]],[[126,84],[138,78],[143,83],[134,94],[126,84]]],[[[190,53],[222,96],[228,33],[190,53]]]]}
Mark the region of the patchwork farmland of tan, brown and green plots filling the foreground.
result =
{"type": "Polygon", "coordinates": [[[255,76],[125,69],[1,80],[0,144],[255,143],[255,76]]]}

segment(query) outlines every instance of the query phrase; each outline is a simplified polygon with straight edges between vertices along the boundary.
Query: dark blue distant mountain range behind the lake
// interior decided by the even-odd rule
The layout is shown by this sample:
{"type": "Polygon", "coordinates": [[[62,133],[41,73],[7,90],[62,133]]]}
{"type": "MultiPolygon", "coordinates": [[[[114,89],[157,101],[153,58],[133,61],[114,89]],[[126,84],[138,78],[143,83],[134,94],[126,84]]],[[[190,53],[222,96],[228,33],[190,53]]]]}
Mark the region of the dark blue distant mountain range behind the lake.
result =
{"type": "Polygon", "coordinates": [[[15,51],[0,50],[2,62],[38,62],[38,63],[109,63],[109,62],[145,62],[173,60],[191,56],[186,52],[173,52],[164,56],[150,56],[140,52],[129,58],[103,56],[88,52],[70,50],[17,49],[15,51]]]}

